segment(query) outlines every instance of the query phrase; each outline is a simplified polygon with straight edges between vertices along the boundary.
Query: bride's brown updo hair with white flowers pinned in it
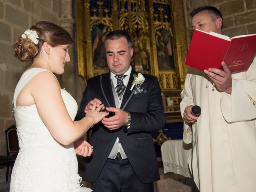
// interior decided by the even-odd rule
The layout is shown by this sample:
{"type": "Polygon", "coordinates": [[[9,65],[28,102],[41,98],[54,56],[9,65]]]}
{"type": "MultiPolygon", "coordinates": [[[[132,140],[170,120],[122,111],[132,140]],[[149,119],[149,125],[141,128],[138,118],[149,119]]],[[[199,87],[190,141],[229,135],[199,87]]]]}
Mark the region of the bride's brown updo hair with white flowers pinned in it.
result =
{"type": "Polygon", "coordinates": [[[30,34],[32,34],[32,32],[34,34],[35,31],[37,38],[31,38],[26,31],[13,44],[15,51],[14,56],[20,61],[34,60],[40,53],[44,42],[47,42],[52,47],[73,43],[70,34],[66,30],[48,21],[40,21],[28,30],[30,30],[28,32],[30,34]]]}

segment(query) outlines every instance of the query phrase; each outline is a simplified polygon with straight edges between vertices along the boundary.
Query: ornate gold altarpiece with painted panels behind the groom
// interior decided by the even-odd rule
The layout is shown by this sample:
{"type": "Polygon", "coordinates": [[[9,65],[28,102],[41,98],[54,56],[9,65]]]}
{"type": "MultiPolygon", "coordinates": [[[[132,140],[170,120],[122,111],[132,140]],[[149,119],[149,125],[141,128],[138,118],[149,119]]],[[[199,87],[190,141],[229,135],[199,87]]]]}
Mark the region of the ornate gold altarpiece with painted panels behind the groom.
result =
{"type": "Polygon", "coordinates": [[[132,37],[132,67],[158,77],[168,122],[182,121],[180,92],[187,54],[180,0],[76,0],[78,74],[86,80],[108,72],[103,45],[112,30],[132,37]]]}

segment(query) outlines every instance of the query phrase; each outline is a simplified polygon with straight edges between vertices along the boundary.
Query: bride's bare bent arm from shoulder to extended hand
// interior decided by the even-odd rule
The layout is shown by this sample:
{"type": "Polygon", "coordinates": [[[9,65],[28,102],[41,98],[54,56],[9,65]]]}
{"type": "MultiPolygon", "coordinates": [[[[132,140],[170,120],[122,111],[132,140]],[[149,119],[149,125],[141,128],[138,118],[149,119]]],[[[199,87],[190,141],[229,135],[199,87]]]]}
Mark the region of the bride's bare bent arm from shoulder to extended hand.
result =
{"type": "Polygon", "coordinates": [[[81,138],[93,124],[106,116],[97,108],[80,121],[73,122],[62,99],[58,81],[50,72],[39,73],[27,86],[40,118],[52,136],[64,145],[81,138]]]}

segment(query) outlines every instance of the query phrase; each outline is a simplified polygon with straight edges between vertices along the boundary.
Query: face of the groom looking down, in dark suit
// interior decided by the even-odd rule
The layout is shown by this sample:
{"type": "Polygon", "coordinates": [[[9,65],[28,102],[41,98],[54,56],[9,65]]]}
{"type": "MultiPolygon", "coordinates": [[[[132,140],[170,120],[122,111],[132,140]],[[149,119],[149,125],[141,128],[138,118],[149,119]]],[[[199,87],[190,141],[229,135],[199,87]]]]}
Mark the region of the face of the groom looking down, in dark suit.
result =
{"type": "Polygon", "coordinates": [[[114,74],[124,74],[129,68],[133,48],[129,50],[126,38],[106,41],[106,58],[108,68],[114,74]]]}

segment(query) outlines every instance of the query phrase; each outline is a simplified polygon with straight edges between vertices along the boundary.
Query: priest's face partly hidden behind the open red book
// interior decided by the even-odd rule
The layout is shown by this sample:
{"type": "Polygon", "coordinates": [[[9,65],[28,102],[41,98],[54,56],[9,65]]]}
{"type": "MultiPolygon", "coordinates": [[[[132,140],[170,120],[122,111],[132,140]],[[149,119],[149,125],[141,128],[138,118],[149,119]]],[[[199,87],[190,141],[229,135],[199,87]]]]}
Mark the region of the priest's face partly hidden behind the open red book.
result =
{"type": "Polygon", "coordinates": [[[198,12],[191,20],[192,29],[198,29],[205,32],[216,32],[222,34],[222,18],[214,20],[208,10],[198,12]]]}

